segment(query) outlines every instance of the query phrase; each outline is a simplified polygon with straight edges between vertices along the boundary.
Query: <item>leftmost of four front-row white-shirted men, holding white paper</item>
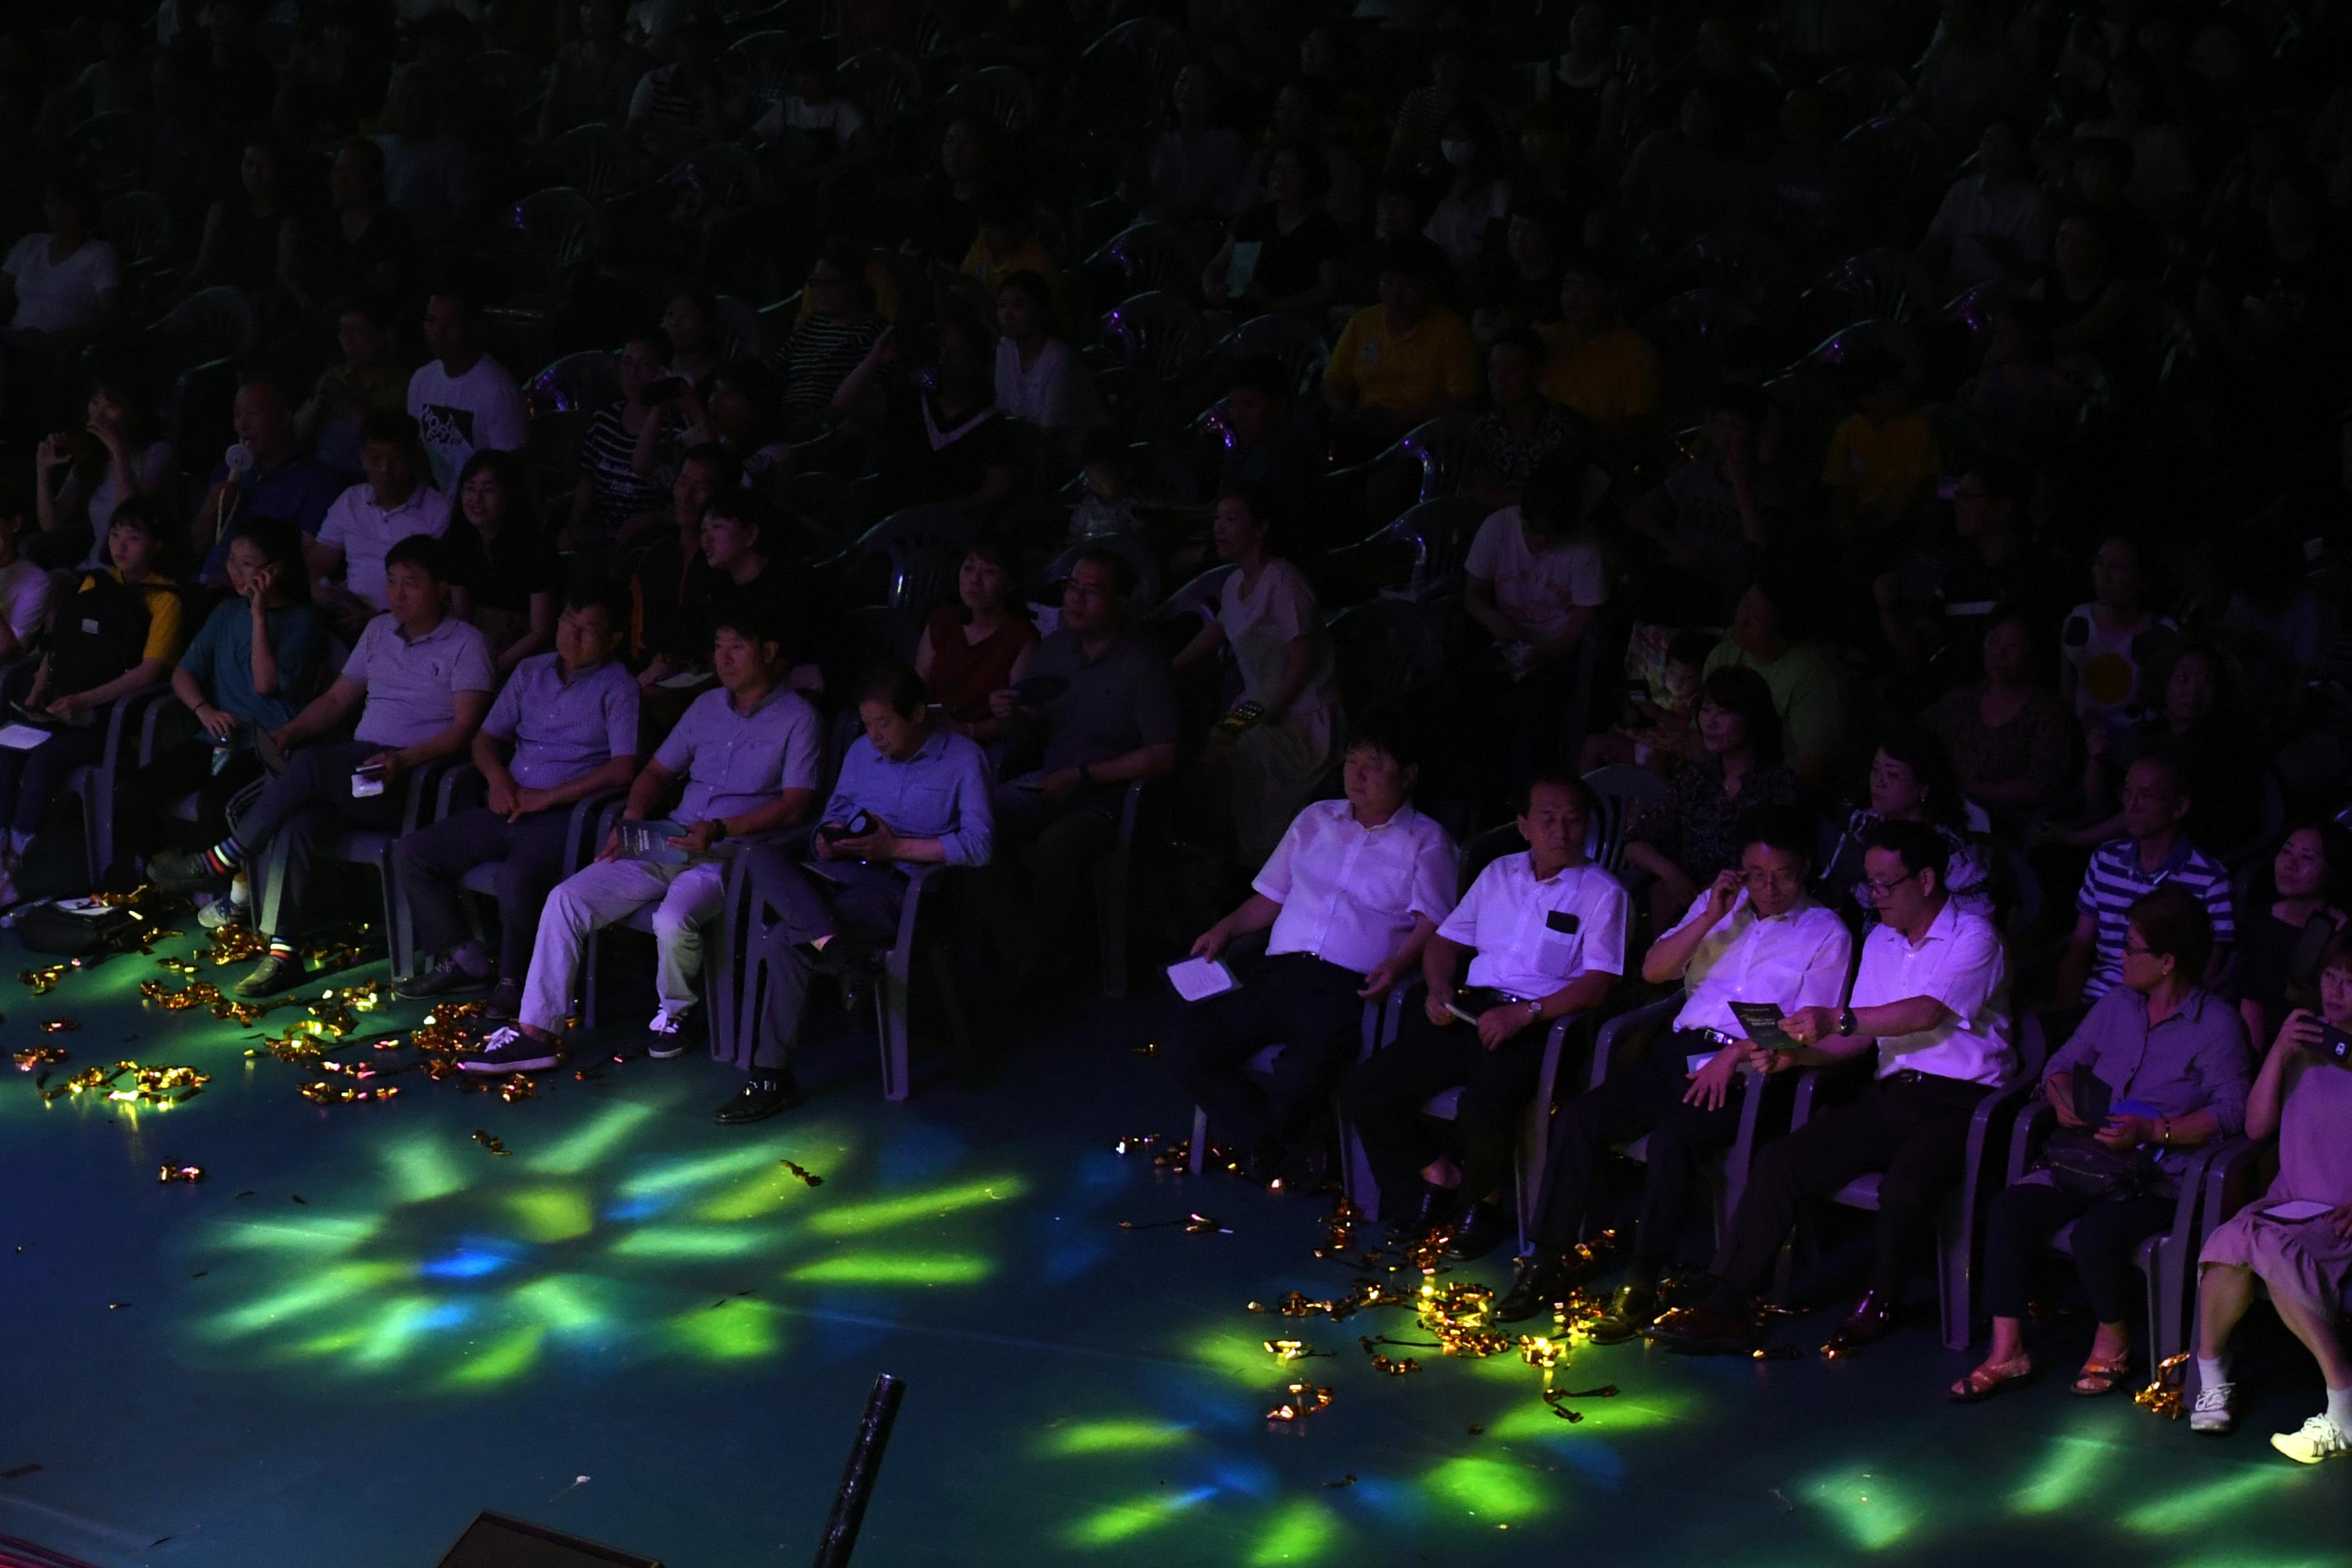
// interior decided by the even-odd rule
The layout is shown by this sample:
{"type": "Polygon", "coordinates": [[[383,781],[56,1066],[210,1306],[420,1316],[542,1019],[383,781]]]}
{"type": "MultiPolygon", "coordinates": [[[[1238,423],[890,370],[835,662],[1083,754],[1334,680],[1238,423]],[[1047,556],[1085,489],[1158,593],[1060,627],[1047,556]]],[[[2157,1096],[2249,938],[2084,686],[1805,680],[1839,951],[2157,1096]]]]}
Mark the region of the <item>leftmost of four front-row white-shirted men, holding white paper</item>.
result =
{"type": "Polygon", "coordinates": [[[1301,811],[1256,891],[1192,943],[1192,957],[1216,959],[1235,938],[1272,929],[1265,961],[1237,990],[1185,1009],[1167,1037],[1176,1081],[1254,1182],[1312,1185],[1322,1143],[1305,1133],[1357,1056],[1364,1001],[1421,966],[1454,910],[1454,842],[1414,811],[1418,776],[1404,726],[1367,717],[1348,741],[1348,797],[1301,811]],[[1249,1058],[1272,1044],[1282,1056],[1258,1084],[1249,1058]]]}

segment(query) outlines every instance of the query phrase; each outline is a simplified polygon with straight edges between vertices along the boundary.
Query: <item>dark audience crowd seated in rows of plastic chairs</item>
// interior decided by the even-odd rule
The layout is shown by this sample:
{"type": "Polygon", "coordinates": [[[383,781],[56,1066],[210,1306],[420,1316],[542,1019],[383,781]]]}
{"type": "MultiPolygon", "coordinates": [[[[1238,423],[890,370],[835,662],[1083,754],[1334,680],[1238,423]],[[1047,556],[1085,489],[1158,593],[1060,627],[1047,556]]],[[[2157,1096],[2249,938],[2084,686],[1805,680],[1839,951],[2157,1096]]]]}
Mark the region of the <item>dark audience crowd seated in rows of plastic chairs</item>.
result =
{"type": "Polygon", "coordinates": [[[720,1124],[1200,959],[1247,1178],[1517,1321],[1632,1152],[1686,1352],[1875,1211],[1952,1401],[2216,1173],[2347,1455],[2347,219],[2336,0],[7,5],[0,905],[360,860],[499,1074],[644,931],[720,1124]]]}

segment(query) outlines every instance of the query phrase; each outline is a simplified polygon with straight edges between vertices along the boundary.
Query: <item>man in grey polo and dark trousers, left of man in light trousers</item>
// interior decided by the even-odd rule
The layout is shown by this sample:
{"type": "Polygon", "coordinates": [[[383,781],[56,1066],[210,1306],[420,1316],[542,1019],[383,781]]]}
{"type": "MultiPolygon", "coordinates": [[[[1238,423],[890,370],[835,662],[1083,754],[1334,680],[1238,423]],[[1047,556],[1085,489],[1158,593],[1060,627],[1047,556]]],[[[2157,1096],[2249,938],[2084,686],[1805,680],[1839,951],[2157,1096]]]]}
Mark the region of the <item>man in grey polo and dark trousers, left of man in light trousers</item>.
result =
{"type": "Polygon", "coordinates": [[[555,651],[515,665],[473,738],[489,804],[421,827],[393,849],[416,945],[442,954],[402,997],[447,997],[492,983],[492,961],[459,910],[459,879],[499,867],[499,964],[489,1016],[513,1018],[539,938],[539,907],[562,882],[572,804],[626,790],[637,776],[637,682],[614,654],[628,635],[609,583],[579,583],[555,621],[555,651]]]}

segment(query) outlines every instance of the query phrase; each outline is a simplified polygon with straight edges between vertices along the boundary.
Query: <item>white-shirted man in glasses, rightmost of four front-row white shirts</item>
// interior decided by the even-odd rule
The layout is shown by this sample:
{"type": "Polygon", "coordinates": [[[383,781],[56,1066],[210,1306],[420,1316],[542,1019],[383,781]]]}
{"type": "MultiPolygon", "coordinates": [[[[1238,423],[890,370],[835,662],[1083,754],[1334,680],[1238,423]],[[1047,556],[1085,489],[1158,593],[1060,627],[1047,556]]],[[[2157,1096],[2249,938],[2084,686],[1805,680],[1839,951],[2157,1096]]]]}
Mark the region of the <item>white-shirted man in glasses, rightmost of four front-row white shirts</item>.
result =
{"type": "Polygon", "coordinates": [[[1851,1352],[1893,1328],[1912,1265],[1931,1248],[1936,1213],[1962,1175],[1976,1105],[2016,1067],[2002,936],[1945,889],[1945,858],[1943,835],[1926,823],[1870,830],[1863,879],[1879,924],[1863,940],[1851,1004],[1795,1009],[1780,1032],[1799,1048],[1750,1046],[1748,1065],[1823,1067],[1877,1046],[1877,1081],[1757,1157],[1712,1288],[1651,1324],[1651,1340],[1691,1352],[1755,1349],[1748,1307],[1771,1279],[1797,1208],[1872,1171],[1882,1173],[1877,1262],[1825,1349],[1851,1352]]]}

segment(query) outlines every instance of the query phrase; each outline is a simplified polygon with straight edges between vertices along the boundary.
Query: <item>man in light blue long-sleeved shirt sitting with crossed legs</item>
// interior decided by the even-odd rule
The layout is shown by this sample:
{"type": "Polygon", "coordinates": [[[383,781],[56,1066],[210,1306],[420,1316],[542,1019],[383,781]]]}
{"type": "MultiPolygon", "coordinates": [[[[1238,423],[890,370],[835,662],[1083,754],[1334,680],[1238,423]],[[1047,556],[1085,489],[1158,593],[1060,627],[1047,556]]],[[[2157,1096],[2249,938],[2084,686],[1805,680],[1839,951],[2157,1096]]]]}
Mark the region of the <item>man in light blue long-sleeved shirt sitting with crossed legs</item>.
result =
{"type": "Polygon", "coordinates": [[[764,1121],[800,1103],[790,1056],[809,1001],[809,971],[828,969],[844,997],[863,990],[873,954],[898,936],[913,865],[985,865],[995,849],[981,748],[931,722],[922,677],[882,665],[858,689],[863,731],[804,842],[750,851],[755,926],[769,950],[767,1009],[743,1065],[743,1093],[722,1126],[764,1121]],[[814,860],[809,858],[814,856],[814,860]]]}

